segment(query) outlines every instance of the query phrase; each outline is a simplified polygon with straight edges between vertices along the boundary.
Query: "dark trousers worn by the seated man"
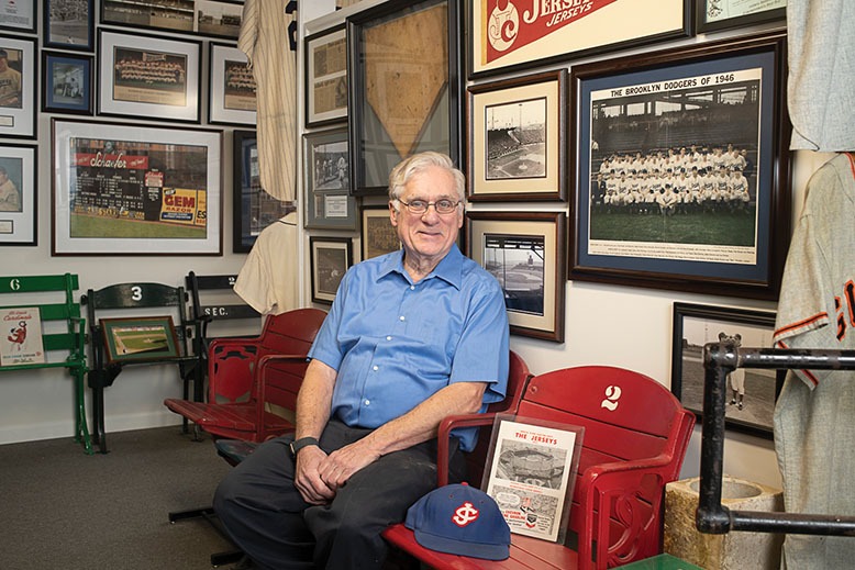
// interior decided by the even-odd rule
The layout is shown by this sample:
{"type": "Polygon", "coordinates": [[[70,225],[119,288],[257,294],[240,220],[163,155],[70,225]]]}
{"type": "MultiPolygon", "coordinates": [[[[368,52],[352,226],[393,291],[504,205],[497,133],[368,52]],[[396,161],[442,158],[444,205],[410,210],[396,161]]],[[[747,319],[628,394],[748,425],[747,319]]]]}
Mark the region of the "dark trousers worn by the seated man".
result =
{"type": "MultiPolygon", "coordinates": [[[[329,454],[370,432],[333,420],[321,448],[329,454]]],[[[381,568],[387,546],[380,533],[436,487],[436,442],[382,456],[356,472],[330,504],[313,506],[293,485],[291,439],[259,446],[220,483],[214,511],[229,535],[266,570],[381,568]]],[[[463,454],[455,450],[451,465],[451,480],[463,480],[463,454]]]]}

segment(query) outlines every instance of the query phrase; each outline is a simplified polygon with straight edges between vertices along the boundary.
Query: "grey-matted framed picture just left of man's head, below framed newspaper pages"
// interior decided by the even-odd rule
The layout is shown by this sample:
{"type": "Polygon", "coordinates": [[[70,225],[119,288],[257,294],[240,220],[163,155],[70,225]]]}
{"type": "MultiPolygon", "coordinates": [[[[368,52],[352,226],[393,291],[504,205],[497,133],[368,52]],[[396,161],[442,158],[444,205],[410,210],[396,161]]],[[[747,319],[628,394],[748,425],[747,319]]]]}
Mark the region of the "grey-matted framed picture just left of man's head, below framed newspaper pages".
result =
{"type": "Polygon", "coordinates": [[[304,227],[356,230],[356,199],[351,195],[347,128],[303,135],[304,227]]]}

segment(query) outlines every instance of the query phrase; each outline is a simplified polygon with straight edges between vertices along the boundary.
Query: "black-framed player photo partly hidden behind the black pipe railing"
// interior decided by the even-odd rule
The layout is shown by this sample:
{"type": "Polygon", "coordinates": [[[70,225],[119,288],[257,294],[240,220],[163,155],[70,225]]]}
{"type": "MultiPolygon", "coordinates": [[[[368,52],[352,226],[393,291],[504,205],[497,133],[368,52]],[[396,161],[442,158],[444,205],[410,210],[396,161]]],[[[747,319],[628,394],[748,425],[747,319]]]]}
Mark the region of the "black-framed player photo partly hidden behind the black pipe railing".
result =
{"type": "MultiPolygon", "coordinates": [[[[770,347],[775,313],[674,303],[671,392],[682,405],[703,413],[703,346],[732,340],[736,346],[770,347]]],[[[737,368],[728,377],[725,426],[771,439],[773,414],[786,370],[737,368]]]]}

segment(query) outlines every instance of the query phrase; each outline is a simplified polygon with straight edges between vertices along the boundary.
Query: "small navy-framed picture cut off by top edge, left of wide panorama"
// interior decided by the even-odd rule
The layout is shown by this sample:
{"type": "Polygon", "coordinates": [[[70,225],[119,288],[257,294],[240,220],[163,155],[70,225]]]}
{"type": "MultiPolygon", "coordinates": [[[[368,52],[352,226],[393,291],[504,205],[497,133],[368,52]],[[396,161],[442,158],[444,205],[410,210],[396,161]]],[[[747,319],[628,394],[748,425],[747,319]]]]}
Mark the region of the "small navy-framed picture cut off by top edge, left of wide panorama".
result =
{"type": "Polygon", "coordinates": [[[42,21],[44,47],[95,48],[95,0],[45,0],[42,21]]]}

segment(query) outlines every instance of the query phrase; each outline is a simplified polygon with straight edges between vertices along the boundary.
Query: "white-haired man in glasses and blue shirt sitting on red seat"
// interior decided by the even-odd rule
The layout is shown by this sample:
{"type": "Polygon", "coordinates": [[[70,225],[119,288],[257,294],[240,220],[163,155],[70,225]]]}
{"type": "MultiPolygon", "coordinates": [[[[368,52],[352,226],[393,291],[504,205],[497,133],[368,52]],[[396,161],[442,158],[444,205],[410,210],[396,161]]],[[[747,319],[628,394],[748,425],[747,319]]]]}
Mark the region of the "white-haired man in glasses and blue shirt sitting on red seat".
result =
{"type": "MultiPolygon", "coordinates": [[[[504,396],[504,297],[456,246],[464,186],[437,153],[392,170],[403,249],[347,271],[309,354],[297,433],[220,484],[214,510],[257,567],[380,568],[380,532],[435,487],[440,421],[504,396]]],[[[456,434],[456,480],[475,437],[456,434]]]]}

